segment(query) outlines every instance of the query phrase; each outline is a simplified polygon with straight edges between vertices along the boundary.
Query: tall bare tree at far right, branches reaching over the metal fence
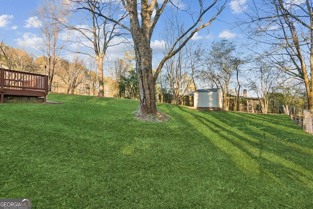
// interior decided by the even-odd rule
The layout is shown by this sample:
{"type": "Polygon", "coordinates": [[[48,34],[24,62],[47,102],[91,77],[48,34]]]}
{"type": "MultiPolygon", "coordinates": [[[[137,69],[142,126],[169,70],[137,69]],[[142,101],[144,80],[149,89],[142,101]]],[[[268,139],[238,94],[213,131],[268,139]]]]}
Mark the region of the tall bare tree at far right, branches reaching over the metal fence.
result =
{"type": "Polygon", "coordinates": [[[268,46],[263,55],[303,82],[309,110],[313,110],[312,0],[253,0],[250,7],[249,21],[241,22],[247,25],[248,37],[259,46],[268,46]]]}

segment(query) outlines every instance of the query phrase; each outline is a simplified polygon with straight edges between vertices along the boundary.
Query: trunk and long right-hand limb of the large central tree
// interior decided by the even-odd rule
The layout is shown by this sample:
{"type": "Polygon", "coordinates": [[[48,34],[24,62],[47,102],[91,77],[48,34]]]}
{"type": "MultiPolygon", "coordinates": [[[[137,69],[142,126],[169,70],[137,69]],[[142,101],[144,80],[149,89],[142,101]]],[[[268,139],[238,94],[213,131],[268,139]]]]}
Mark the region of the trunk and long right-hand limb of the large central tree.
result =
{"type": "MultiPolygon", "coordinates": [[[[177,39],[177,42],[171,47],[168,55],[165,56],[159,63],[155,74],[152,73],[152,49],[150,47],[150,41],[155,29],[156,23],[159,20],[160,15],[164,11],[166,4],[169,0],[163,0],[163,3],[159,7],[157,0],[141,0],[140,12],[138,12],[138,0],[122,0],[125,6],[130,20],[130,28],[127,28],[134,41],[134,49],[136,56],[136,70],[139,83],[139,108],[138,113],[140,115],[154,114],[159,115],[160,113],[156,109],[156,78],[160,73],[164,63],[169,58],[173,57],[179,50],[186,45],[186,43],[194,36],[196,32],[202,28],[211,24],[213,20],[222,12],[224,9],[225,2],[222,3],[221,7],[218,8],[216,15],[209,18],[209,21],[202,23],[202,18],[204,14],[209,11],[217,1],[213,1],[205,7],[202,5],[202,0],[200,3],[200,14],[199,18],[195,20],[194,24],[191,25],[185,32],[182,31],[182,35],[177,39]],[[140,23],[139,16],[140,15],[140,23]],[[199,24],[200,25],[199,25],[199,24]],[[189,35],[187,35],[189,34],[189,35]],[[182,40],[179,43],[179,40],[182,40]]],[[[122,19],[121,19],[122,20],[122,19]]]]}

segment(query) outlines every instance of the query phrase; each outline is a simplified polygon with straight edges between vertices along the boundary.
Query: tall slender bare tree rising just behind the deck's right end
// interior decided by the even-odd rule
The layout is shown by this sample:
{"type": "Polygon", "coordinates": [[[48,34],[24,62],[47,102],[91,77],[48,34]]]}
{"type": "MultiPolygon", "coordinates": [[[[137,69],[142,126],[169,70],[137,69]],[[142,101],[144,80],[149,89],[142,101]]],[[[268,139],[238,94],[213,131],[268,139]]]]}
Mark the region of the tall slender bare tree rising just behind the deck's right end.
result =
{"type": "Polygon", "coordinates": [[[43,4],[37,9],[36,23],[40,28],[40,36],[43,44],[38,44],[38,48],[43,52],[46,64],[46,73],[48,74],[48,91],[51,92],[51,86],[54,77],[54,71],[59,61],[62,49],[67,43],[66,39],[60,39],[60,33],[63,30],[58,20],[66,15],[66,9],[63,7],[64,0],[43,0],[43,4]]]}

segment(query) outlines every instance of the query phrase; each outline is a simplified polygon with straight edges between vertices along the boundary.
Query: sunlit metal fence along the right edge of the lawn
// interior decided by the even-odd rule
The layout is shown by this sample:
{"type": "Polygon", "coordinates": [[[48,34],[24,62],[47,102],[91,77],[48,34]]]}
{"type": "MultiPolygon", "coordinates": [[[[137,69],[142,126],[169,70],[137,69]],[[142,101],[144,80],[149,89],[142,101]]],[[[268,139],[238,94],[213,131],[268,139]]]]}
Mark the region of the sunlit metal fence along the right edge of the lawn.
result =
{"type": "Polygon", "coordinates": [[[291,119],[305,131],[313,134],[313,111],[286,106],[284,111],[291,119]]]}

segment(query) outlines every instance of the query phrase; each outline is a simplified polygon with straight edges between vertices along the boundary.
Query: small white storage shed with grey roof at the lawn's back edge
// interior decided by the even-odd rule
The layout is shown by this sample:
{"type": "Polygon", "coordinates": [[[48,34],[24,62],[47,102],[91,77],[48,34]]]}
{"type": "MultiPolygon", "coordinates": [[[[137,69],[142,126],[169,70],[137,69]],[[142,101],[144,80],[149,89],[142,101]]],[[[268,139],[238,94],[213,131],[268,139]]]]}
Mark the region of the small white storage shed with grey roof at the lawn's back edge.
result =
{"type": "Polygon", "coordinates": [[[223,109],[221,89],[198,89],[194,92],[194,107],[207,109],[223,109]]]}

